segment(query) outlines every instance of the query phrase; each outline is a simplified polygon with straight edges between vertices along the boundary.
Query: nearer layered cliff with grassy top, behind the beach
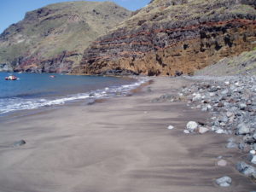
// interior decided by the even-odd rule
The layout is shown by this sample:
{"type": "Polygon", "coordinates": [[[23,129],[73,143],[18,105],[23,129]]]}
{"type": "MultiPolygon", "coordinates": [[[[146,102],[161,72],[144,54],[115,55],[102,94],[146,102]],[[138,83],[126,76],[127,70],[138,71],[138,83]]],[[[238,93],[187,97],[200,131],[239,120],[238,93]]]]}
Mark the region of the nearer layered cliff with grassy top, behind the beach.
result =
{"type": "Polygon", "coordinates": [[[193,73],[253,49],[254,0],[154,0],[85,49],[73,73],[193,73]]]}

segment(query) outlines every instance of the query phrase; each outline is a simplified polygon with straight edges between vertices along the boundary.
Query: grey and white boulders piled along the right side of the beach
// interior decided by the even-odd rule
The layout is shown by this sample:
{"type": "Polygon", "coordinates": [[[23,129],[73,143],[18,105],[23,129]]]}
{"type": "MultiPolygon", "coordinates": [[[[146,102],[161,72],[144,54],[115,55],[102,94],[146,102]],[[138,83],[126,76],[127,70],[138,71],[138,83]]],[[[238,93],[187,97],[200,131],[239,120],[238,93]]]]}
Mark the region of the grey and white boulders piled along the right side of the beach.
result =
{"type": "MultiPolygon", "coordinates": [[[[247,160],[252,165],[256,164],[256,77],[192,79],[197,80],[189,87],[183,87],[179,96],[187,98],[189,107],[212,113],[212,118],[203,129],[236,135],[230,137],[226,148],[241,149],[247,153],[247,160]]],[[[199,124],[190,121],[184,132],[191,133],[200,129],[199,124]]],[[[247,177],[256,178],[255,167],[239,162],[236,168],[247,177]]]]}

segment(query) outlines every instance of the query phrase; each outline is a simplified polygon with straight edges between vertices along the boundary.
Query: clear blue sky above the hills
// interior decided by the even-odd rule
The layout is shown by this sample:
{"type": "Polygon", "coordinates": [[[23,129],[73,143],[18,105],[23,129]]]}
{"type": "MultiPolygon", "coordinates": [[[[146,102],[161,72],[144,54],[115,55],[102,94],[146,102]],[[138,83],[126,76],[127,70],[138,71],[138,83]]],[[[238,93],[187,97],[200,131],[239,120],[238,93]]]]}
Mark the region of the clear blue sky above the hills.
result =
{"type": "MultiPolygon", "coordinates": [[[[75,0],[0,0],[0,33],[8,26],[24,18],[27,11],[42,8],[51,3],[71,2],[75,0]]],[[[79,0],[81,1],[81,0],[79,0]]],[[[90,0],[92,1],[92,0],[90,0]]],[[[103,2],[106,0],[94,0],[103,2]]],[[[137,10],[150,0],[111,0],[129,10],[137,10]]]]}

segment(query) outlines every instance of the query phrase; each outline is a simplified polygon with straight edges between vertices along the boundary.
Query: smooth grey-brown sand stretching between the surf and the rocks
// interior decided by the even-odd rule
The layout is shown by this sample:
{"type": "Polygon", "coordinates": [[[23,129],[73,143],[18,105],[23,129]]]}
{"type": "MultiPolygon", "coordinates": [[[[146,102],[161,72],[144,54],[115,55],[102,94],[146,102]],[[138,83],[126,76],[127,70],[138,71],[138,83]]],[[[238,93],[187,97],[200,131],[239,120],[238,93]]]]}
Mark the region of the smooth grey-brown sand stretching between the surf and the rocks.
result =
{"type": "Polygon", "coordinates": [[[249,192],[227,136],[183,133],[209,114],[185,102],[151,102],[185,79],[155,78],[132,96],[0,122],[1,192],[249,192]],[[150,86],[152,91],[148,91],[150,86]],[[167,126],[174,129],[168,130],[167,126]],[[13,147],[24,139],[26,144],[13,147]],[[228,161],[217,166],[218,156],[228,161]],[[230,187],[215,180],[232,177],[230,187]]]}

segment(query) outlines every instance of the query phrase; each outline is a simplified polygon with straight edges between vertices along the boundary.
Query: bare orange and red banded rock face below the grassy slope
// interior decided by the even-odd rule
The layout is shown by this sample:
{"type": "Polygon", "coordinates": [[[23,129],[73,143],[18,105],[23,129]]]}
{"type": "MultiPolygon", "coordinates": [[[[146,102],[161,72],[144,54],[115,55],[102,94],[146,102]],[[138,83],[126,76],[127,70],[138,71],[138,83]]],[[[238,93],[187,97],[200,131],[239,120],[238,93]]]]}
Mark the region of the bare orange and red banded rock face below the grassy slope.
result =
{"type": "Polygon", "coordinates": [[[253,49],[255,41],[255,20],[224,20],[177,28],[145,26],[140,32],[119,30],[86,49],[81,65],[73,73],[193,73],[224,57],[253,49]]]}

